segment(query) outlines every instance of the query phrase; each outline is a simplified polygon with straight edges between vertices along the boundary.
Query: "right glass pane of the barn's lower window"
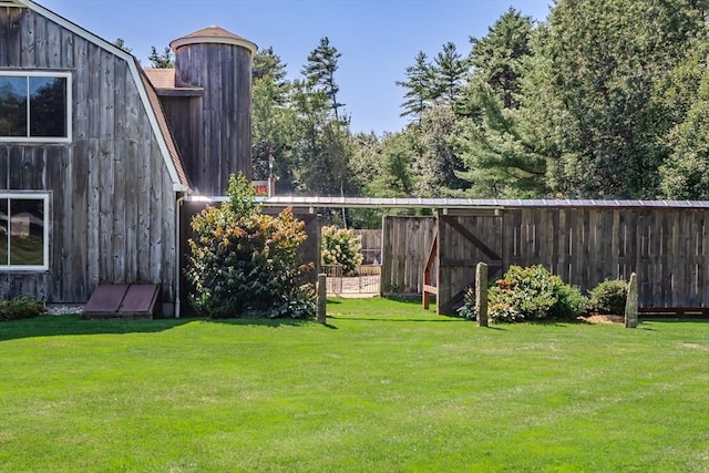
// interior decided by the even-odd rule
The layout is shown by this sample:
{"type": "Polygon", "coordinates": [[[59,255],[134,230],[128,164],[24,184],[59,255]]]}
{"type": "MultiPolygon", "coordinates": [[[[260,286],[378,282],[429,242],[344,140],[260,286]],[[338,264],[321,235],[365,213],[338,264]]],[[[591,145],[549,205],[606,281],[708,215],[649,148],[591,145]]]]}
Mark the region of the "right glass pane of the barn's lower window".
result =
{"type": "Polygon", "coordinates": [[[10,200],[10,265],[44,265],[44,200],[10,200]]]}

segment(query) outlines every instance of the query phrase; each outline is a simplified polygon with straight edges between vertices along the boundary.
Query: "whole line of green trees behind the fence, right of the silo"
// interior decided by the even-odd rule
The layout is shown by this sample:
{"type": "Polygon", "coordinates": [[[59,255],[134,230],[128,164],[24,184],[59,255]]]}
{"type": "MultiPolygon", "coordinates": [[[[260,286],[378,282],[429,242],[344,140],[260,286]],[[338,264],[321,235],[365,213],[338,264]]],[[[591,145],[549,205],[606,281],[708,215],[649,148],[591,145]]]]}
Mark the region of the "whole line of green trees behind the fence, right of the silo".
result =
{"type": "Polygon", "coordinates": [[[402,71],[400,131],[352,134],[327,38],[254,60],[254,178],[280,194],[709,199],[709,0],[510,9],[402,71]]]}

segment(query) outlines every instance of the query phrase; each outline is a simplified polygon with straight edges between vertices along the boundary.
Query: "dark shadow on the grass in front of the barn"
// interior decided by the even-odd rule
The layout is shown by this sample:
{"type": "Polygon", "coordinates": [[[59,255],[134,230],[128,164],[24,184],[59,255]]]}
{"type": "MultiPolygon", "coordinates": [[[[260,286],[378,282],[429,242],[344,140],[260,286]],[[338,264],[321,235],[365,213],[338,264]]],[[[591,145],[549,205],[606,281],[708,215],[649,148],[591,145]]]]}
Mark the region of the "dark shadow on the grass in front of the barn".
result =
{"type": "Polygon", "coordinates": [[[198,319],[126,320],[82,319],[79,315],[41,316],[0,322],[0,341],[68,335],[151,333],[169,330],[198,319]]]}

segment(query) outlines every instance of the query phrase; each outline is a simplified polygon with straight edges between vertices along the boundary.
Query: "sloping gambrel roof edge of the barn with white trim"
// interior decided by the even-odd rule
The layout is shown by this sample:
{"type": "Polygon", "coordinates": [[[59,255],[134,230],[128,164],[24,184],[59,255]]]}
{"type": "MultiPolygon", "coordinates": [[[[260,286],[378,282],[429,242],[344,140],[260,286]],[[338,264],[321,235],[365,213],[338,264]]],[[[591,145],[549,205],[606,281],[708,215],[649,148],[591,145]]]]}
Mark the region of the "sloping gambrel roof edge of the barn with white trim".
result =
{"type": "Polygon", "coordinates": [[[32,0],[0,0],[0,7],[29,8],[99,48],[125,60],[131,72],[131,76],[138,90],[143,106],[147,113],[151,127],[158,143],[161,154],[163,155],[165,166],[173,183],[173,189],[176,192],[188,192],[191,189],[182,158],[177,152],[177,147],[175,146],[175,142],[167,125],[167,120],[165,119],[163,109],[160,105],[155,90],[143,72],[137,59],[133,54],[117,48],[111,42],[95,35],[53,11],[48,10],[32,0]]]}

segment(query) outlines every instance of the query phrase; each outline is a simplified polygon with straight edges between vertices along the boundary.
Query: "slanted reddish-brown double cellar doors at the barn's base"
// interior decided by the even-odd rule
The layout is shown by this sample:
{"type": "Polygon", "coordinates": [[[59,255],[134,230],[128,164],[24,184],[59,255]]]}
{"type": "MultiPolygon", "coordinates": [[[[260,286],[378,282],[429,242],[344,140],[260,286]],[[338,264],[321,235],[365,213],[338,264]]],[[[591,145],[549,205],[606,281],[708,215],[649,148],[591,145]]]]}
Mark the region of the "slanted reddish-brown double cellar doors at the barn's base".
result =
{"type": "Polygon", "coordinates": [[[84,306],[85,319],[153,319],[158,285],[99,285],[84,306]]]}

